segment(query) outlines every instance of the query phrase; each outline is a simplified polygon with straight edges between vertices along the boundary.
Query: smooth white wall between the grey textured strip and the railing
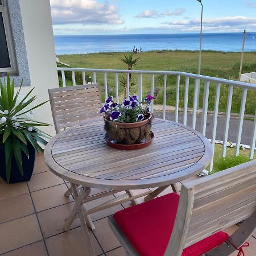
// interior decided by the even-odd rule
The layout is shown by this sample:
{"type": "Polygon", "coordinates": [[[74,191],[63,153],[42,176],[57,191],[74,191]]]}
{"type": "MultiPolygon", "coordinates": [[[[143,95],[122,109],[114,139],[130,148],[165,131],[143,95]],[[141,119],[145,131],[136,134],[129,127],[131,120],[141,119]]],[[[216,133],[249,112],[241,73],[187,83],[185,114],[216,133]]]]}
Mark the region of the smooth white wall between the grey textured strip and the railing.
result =
{"type": "MultiPolygon", "coordinates": [[[[49,0],[20,0],[20,13],[33,95],[37,96],[35,104],[39,104],[49,99],[48,89],[59,87],[49,0]]],[[[24,86],[22,94],[30,89],[24,86]]],[[[53,125],[49,102],[35,110],[34,119],[53,125]]],[[[55,134],[53,126],[44,131],[55,134]]]]}

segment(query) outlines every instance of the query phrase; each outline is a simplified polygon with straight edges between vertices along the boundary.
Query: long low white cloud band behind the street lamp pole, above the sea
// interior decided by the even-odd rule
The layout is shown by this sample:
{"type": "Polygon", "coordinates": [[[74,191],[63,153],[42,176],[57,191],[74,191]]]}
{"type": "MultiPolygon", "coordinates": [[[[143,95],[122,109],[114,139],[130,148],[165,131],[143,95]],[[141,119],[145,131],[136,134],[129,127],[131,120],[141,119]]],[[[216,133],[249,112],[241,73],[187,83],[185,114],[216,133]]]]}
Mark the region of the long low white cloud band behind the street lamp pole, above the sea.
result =
{"type": "MultiPolygon", "coordinates": [[[[200,27],[200,19],[172,20],[163,22],[171,28],[179,28],[183,31],[197,31],[200,27]]],[[[203,19],[204,30],[238,31],[246,27],[256,27],[256,18],[245,16],[227,16],[222,18],[203,19]]]]}

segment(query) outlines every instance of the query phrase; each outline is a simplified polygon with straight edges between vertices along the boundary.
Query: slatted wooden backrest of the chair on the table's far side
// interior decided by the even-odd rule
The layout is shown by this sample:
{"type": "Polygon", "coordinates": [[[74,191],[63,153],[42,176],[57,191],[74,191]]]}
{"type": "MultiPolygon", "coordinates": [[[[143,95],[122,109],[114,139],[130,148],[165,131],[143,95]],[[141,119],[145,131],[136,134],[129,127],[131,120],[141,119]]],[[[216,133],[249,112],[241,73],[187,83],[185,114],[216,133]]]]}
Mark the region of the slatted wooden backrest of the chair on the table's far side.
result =
{"type": "Polygon", "coordinates": [[[99,116],[102,105],[98,84],[49,89],[49,100],[56,133],[99,116]]]}

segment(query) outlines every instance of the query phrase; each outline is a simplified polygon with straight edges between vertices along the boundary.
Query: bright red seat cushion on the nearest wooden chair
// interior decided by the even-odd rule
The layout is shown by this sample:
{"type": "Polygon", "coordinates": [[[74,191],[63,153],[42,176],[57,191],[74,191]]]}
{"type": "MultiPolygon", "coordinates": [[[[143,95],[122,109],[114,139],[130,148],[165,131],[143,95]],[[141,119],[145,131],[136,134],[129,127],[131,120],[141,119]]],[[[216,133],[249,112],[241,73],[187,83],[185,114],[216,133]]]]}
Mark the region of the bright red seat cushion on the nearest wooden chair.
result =
{"type": "MultiPolygon", "coordinates": [[[[170,193],[114,214],[122,232],[142,256],[162,256],[171,237],[179,195],[170,193]]],[[[220,231],[183,250],[182,256],[198,256],[228,240],[220,231]]]]}

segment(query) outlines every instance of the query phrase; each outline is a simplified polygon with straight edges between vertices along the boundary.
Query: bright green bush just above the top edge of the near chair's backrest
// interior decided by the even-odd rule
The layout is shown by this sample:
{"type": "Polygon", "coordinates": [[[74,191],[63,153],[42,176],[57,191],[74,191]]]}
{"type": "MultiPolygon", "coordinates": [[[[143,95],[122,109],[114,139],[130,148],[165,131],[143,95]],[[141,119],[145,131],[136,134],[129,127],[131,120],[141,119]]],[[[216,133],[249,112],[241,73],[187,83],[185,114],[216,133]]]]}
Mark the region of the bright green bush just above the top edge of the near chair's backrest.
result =
{"type": "Polygon", "coordinates": [[[214,172],[226,170],[230,167],[238,166],[239,164],[246,163],[250,159],[247,158],[246,156],[240,155],[240,156],[226,156],[225,158],[220,158],[216,160],[214,163],[214,172]]]}

